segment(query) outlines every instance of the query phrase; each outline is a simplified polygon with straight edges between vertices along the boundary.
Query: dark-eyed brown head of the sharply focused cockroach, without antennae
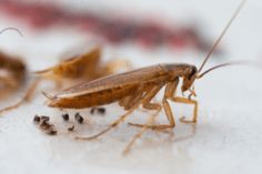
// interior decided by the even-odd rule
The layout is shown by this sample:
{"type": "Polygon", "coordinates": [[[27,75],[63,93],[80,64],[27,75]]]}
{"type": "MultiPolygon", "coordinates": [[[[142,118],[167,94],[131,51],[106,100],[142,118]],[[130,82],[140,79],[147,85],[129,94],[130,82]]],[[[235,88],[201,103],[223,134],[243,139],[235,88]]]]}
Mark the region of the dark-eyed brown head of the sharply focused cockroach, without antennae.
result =
{"type": "Polygon", "coordinates": [[[181,86],[181,91],[185,92],[188,91],[191,85],[194,83],[194,80],[198,76],[198,69],[194,65],[190,65],[185,69],[184,75],[183,75],[183,83],[181,86]]]}

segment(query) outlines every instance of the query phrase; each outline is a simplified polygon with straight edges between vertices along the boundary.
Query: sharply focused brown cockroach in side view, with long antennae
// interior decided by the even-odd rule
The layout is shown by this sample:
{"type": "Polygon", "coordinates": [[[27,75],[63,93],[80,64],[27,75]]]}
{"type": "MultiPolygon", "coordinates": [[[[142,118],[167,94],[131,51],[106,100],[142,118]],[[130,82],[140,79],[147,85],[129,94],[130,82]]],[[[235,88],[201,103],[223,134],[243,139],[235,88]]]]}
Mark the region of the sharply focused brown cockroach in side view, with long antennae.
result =
{"type": "Polygon", "coordinates": [[[192,64],[170,63],[158,64],[120,74],[109,75],[91,82],[80,83],[72,88],[62,90],[56,95],[50,95],[43,92],[46,98],[49,100],[48,106],[60,109],[87,109],[118,102],[119,105],[123,106],[127,111],[127,113],[113,121],[100,133],[89,137],[77,136],[77,140],[93,140],[101,136],[123,122],[135,109],[138,109],[140,104],[145,110],[154,110],[155,114],[158,114],[163,108],[169,124],[152,125],[129,123],[129,125],[153,130],[173,129],[175,126],[175,121],[168,100],[183,104],[192,104],[194,106],[193,117],[191,120],[187,120],[184,116],[182,116],[180,121],[183,123],[196,123],[198,101],[191,99],[192,95],[195,95],[194,91],[192,90],[193,83],[196,79],[203,78],[212,70],[233,64],[224,63],[202,72],[206,61],[210,59],[225,32],[229,30],[231,23],[239,14],[245,1],[246,0],[242,0],[239,8],[233,13],[233,17],[230,19],[226,27],[223,29],[222,33],[206,54],[199,70],[192,64]],[[181,79],[181,91],[182,93],[190,92],[190,98],[175,95],[175,91],[181,79]],[[165,91],[162,99],[162,104],[151,102],[163,86],[165,86],[165,91]]]}

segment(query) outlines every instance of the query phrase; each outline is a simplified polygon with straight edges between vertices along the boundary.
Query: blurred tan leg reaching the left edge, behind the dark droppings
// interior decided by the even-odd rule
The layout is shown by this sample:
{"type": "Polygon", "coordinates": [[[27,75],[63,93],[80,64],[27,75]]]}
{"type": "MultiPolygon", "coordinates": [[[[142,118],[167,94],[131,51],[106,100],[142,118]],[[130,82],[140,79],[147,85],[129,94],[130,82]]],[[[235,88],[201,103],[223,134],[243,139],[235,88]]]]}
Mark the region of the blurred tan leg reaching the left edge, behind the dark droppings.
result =
{"type": "Polygon", "coordinates": [[[37,89],[37,86],[38,86],[38,84],[39,84],[39,82],[40,82],[40,79],[39,78],[36,79],[33,81],[33,83],[30,85],[30,88],[28,89],[28,91],[26,92],[24,96],[20,101],[18,101],[16,104],[7,106],[7,108],[0,110],[0,114],[2,114],[3,112],[7,112],[7,111],[14,110],[14,109],[19,108],[21,104],[23,104],[24,102],[30,101],[33,93],[34,93],[34,91],[36,91],[36,89],[37,89]]]}

